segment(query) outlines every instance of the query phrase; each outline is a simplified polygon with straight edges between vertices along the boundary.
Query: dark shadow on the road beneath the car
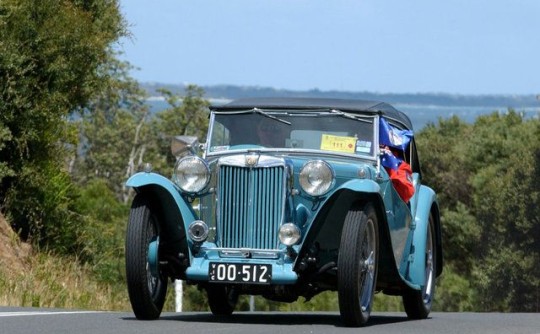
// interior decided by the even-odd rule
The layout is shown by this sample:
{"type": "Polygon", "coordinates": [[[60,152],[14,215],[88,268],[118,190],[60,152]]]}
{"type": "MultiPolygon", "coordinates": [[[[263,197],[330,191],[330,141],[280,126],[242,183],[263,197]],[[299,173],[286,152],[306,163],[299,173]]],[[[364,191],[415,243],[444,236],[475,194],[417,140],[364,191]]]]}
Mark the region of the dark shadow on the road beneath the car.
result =
{"type": "MultiPolygon", "coordinates": [[[[338,313],[282,313],[282,312],[238,312],[231,316],[214,316],[211,313],[182,313],[162,315],[160,320],[207,322],[207,323],[239,323],[239,324],[272,324],[272,325],[330,325],[343,327],[338,313]]],[[[406,316],[372,315],[367,326],[385,325],[407,321],[406,316]]]]}

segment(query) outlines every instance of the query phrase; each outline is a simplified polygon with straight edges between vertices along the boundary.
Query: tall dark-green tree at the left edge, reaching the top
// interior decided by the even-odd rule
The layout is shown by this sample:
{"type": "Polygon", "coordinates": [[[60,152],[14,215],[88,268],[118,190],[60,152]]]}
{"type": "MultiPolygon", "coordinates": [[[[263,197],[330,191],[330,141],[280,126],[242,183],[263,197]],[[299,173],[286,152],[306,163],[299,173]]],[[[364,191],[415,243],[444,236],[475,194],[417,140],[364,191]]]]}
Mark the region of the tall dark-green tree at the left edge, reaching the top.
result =
{"type": "Polygon", "coordinates": [[[0,2],[0,209],[24,238],[76,247],[68,123],[125,33],[113,0],[0,2]]]}

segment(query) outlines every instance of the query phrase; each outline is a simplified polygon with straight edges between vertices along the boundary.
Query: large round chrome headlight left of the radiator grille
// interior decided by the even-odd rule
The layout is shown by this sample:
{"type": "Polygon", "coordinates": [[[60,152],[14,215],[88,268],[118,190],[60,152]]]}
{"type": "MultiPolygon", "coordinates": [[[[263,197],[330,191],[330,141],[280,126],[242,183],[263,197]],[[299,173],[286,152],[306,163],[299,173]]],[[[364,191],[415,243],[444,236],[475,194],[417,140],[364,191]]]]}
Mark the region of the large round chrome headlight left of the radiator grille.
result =
{"type": "Polygon", "coordinates": [[[210,170],[206,162],[197,156],[184,157],[174,168],[174,182],[187,193],[198,193],[210,182],[210,170]]]}

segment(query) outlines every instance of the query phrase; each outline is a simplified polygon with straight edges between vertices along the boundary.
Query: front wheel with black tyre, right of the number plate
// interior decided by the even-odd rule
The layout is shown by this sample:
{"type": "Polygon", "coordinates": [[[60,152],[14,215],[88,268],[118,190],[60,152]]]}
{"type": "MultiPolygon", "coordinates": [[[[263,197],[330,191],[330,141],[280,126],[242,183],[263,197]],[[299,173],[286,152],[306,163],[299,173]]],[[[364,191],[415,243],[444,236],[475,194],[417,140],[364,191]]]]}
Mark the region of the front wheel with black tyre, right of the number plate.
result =
{"type": "Polygon", "coordinates": [[[379,230],[375,209],[352,207],[343,225],[338,255],[338,299],[346,326],[365,325],[377,284],[379,230]]]}

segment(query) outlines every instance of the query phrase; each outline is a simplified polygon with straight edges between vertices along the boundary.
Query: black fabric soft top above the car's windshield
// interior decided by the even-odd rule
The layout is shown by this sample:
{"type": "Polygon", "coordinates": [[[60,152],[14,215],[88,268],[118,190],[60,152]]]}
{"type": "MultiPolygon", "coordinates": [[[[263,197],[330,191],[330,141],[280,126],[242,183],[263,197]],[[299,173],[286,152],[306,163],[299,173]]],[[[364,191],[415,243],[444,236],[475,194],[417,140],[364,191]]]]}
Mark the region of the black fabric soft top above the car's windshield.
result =
{"type": "Polygon", "coordinates": [[[320,110],[335,109],[349,113],[380,114],[412,130],[409,117],[386,102],[327,98],[246,98],[225,105],[212,106],[214,111],[258,109],[320,110]]]}

